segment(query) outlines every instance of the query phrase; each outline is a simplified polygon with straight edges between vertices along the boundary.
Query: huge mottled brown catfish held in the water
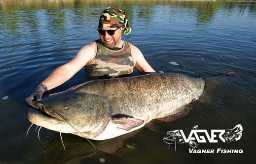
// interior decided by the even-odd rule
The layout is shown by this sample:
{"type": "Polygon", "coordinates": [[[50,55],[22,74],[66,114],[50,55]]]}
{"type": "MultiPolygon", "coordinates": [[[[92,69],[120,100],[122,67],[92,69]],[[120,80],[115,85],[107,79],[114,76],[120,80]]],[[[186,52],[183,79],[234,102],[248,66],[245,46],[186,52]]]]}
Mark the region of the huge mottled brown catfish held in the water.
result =
{"type": "Polygon", "coordinates": [[[135,131],[153,119],[182,115],[204,87],[202,78],[174,73],[95,80],[34,102],[42,111],[29,109],[27,116],[53,131],[104,140],[135,131]]]}

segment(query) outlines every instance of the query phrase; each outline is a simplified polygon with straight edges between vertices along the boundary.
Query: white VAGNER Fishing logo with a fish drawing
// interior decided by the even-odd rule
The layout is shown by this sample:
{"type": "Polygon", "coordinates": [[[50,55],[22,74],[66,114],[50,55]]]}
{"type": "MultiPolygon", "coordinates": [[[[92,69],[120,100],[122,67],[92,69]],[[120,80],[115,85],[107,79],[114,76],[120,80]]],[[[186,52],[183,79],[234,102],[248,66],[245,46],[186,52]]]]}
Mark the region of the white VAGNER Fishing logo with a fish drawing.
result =
{"type": "MultiPolygon", "coordinates": [[[[221,140],[224,143],[229,143],[234,140],[239,140],[242,137],[243,127],[241,124],[236,125],[233,129],[228,130],[211,130],[209,134],[207,130],[197,129],[198,126],[194,126],[188,137],[185,136],[183,130],[175,130],[167,132],[168,137],[164,137],[163,140],[166,145],[174,144],[176,151],[176,144],[188,143],[189,153],[215,153],[214,149],[194,149],[197,148],[199,143],[217,143],[221,140]],[[201,135],[200,135],[201,134],[201,135]],[[203,134],[203,136],[202,136],[203,134]],[[205,137],[206,136],[206,137],[205,137]]],[[[220,149],[218,148],[217,153],[243,153],[243,150],[236,149],[220,149]]]]}

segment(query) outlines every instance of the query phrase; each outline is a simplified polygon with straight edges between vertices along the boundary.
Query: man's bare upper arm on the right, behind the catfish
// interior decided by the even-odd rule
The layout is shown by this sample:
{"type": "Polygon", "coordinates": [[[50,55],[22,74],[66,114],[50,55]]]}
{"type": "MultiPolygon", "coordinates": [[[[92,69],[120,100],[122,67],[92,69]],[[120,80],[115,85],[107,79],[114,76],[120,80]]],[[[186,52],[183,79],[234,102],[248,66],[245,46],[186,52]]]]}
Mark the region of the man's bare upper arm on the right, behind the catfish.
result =
{"type": "Polygon", "coordinates": [[[135,47],[134,45],[130,44],[131,46],[131,53],[134,59],[135,68],[142,74],[149,74],[155,72],[155,70],[146,62],[142,52],[135,47]]]}

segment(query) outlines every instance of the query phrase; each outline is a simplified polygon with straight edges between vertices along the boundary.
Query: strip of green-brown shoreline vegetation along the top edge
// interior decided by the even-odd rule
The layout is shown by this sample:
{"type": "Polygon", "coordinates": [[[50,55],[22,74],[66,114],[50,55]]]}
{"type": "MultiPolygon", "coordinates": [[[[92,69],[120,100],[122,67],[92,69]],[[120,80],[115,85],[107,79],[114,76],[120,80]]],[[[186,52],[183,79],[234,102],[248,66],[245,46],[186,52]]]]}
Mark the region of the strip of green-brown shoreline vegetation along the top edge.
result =
{"type": "Polygon", "coordinates": [[[0,0],[0,10],[10,11],[24,7],[44,6],[50,9],[81,6],[120,6],[120,5],[202,5],[223,2],[256,2],[256,0],[0,0]]]}

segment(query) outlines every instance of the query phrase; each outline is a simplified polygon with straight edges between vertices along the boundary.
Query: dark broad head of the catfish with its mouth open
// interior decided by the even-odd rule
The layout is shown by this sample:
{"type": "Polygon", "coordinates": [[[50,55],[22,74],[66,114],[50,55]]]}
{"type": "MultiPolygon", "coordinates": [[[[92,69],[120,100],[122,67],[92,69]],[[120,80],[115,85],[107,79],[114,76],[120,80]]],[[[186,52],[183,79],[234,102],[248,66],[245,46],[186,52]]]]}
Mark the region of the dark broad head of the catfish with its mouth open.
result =
{"type": "Polygon", "coordinates": [[[66,92],[34,101],[28,119],[47,129],[86,138],[99,136],[111,119],[108,100],[96,94],[66,92]]]}

